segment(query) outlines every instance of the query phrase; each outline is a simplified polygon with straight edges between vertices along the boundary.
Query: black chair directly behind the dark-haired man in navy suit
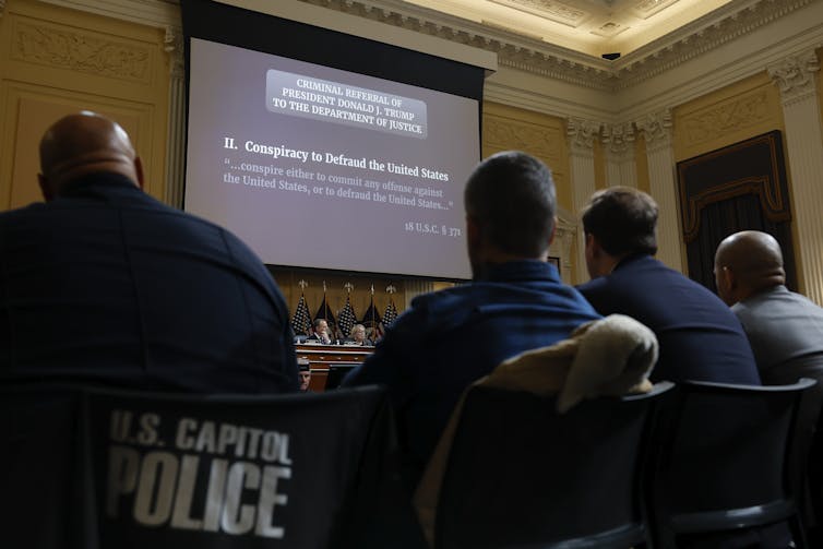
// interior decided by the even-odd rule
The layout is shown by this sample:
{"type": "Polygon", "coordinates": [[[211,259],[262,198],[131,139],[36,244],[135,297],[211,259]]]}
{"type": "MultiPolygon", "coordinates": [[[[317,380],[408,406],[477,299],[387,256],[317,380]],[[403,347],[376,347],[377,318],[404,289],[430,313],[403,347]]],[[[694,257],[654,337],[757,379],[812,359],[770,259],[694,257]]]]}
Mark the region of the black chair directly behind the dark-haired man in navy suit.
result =
{"type": "Polygon", "coordinates": [[[766,547],[755,541],[761,533],[790,534],[804,546],[788,465],[799,404],[813,385],[808,379],[772,386],[678,384],[658,416],[658,453],[649,468],[655,547],[714,547],[741,536],[766,547]]]}

